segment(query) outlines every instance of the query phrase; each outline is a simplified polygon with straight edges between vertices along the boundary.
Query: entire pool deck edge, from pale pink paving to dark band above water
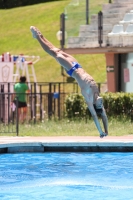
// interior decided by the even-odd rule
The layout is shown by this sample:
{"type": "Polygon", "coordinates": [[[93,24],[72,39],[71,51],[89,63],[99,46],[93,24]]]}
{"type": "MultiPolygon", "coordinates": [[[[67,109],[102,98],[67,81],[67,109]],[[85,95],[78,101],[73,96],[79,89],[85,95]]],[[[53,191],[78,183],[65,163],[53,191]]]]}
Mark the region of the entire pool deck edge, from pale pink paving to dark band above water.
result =
{"type": "Polygon", "coordinates": [[[72,148],[75,148],[74,151],[81,151],[81,149],[84,151],[110,151],[112,148],[111,151],[133,152],[133,135],[107,136],[102,139],[98,136],[0,137],[1,153],[44,152],[45,150],[49,151],[50,148],[56,148],[58,151],[60,148],[67,150],[70,148],[70,151],[72,148]]]}

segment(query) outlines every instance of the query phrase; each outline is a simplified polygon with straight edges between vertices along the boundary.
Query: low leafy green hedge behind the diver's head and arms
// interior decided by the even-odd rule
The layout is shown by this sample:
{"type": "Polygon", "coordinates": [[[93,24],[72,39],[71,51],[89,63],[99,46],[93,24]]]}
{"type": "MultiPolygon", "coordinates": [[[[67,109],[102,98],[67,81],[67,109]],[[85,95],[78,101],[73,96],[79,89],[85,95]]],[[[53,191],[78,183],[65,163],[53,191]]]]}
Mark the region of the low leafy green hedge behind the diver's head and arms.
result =
{"type": "MultiPolygon", "coordinates": [[[[107,116],[131,116],[133,111],[133,93],[104,93],[101,96],[103,97],[107,116]]],[[[65,107],[65,116],[68,118],[91,116],[81,94],[68,95],[65,99],[65,107]]]]}

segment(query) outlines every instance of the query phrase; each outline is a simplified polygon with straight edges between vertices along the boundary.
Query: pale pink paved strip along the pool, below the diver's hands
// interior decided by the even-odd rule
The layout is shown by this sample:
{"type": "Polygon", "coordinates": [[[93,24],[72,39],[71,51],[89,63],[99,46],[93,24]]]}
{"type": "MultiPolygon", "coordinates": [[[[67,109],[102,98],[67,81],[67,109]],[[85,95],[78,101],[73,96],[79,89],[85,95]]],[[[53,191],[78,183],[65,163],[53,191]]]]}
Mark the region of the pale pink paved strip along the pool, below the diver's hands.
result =
{"type": "Polygon", "coordinates": [[[133,143],[133,135],[128,136],[107,136],[100,138],[98,136],[56,136],[56,137],[0,137],[1,144],[11,143],[32,143],[32,142],[46,142],[46,143],[133,143]]]}

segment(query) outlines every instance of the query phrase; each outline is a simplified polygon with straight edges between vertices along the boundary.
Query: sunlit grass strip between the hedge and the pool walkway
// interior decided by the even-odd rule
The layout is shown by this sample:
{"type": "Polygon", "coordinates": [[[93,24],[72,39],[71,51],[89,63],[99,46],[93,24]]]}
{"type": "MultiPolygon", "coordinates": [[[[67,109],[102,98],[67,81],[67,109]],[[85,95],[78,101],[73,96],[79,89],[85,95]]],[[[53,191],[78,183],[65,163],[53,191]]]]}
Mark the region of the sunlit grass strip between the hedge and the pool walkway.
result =
{"type": "MultiPolygon", "coordinates": [[[[102,124],[101,124],[102,125],[102,124]]],[[[109,119],[109,135],[122,136],[133,134],[133,123],[130,119],[109,119]]],[[[1,136],[15,136],[13,133],[1,133],[1,136]]],[[[36,124],[19,125],[19,136],[99,136],[93,120],[77,119],[69,121],[67,119],[60,121],[46,120],[36,124]]]]}

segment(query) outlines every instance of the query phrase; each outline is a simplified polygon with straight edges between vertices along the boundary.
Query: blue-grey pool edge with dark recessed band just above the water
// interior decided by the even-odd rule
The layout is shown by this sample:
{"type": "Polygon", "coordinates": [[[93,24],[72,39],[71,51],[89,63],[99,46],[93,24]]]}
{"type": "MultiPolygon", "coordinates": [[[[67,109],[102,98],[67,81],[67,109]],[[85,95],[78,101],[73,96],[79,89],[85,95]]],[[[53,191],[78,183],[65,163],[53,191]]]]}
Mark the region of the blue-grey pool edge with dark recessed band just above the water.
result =
{"type": "Polygon", "coordinates": [[[7,142],[0,144],[0,153],[19,152],[133,152],[131,141],[39,141],[7,142]]]}

